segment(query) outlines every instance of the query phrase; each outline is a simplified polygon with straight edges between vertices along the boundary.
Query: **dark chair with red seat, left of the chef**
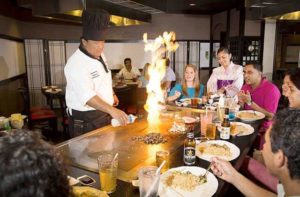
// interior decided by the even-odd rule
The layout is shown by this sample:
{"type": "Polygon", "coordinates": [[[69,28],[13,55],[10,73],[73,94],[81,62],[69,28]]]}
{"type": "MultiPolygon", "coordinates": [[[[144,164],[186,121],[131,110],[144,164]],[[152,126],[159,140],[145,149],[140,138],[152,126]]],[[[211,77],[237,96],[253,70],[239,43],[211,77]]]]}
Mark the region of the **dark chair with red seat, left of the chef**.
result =
{"type": "Polygon", "coordinates": [[[39,125],[42,127],[49,126],[53,132],[57,131],[57,116],[49,106],[33,106],[30,107],[29,91],[26,87],[18,88],[21,93],[24,110],[23,113],[28,116],[28,126],[32,129],[34,126],[39,125]]]}

